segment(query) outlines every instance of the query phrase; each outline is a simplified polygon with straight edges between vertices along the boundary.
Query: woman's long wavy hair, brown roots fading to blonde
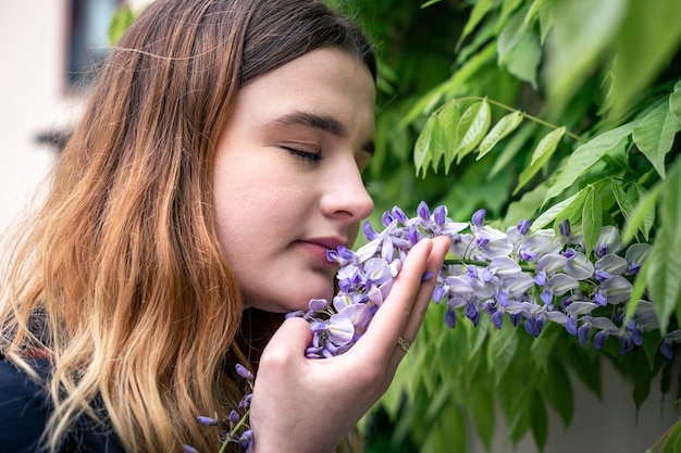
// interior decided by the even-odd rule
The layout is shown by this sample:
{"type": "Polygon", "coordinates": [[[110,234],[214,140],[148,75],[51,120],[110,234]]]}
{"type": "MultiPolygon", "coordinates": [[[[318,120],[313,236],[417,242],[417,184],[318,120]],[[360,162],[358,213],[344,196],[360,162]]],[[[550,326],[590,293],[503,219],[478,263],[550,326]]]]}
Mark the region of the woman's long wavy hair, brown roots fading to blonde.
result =
{"type": "Polygon", "coordinates": [[[239,87],[321,46],[375,76],[362,33],[314,0],[157,0],[112,50],[8,252],[0,353],[28,373],[27,351],[49,353],[48,450],[78,417],[101,420],[95,401],[127,451],[219,449],[196,416],[233,407],[227,363],[247,347],[214,227],[214,142],[239,87]]]}

